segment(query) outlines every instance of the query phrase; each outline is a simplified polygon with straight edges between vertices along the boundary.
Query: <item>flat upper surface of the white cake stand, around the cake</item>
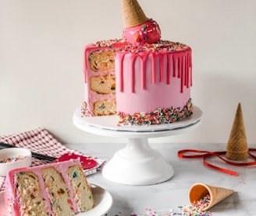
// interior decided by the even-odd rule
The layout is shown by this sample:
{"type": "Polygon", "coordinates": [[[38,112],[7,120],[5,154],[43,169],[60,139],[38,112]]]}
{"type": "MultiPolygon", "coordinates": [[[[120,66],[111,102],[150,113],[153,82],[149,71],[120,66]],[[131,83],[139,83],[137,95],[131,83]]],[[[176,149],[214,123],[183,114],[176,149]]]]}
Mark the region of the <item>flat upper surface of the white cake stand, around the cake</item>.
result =
{"type": "Polygon", "coordinates": [[[80,125],[87,125],[89,127],[98,127],[112,131],[133,131],[133,132],[149,132],[149,131],[165,131],[174,130],[181,127],[187,127],[191,124],[196,124],[201,120],[202,111],[197,106],[193,106],[193,114],[183,120],[170,124],[157,125],[140,125],[140,126],[118,126],[116,115],[102,116],[102,117],[82,117],[81,109],[76,109],[73,114],[73,120],[80,125]]]}

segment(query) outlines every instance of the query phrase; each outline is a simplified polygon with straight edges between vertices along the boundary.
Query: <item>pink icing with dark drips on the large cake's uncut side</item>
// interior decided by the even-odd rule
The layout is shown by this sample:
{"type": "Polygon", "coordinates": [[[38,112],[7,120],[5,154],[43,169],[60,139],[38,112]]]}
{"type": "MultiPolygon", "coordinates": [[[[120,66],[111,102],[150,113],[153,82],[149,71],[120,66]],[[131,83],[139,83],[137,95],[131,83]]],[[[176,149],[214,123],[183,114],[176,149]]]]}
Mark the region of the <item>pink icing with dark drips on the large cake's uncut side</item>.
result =
{"type": "Polygon", "coordinates": [[[169,41],[116,53],[117,112],[183,107],[192,85],[191,49],[169,41]]]}

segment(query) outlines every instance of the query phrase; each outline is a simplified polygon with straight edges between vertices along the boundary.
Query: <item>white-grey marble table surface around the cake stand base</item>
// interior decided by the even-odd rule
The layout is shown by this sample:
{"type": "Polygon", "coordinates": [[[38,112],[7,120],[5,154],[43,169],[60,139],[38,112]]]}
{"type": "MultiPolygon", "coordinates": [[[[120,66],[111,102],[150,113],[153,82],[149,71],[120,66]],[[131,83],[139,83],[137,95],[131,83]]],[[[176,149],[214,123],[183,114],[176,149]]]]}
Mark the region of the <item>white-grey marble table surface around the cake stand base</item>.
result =
{"type": "MultiPolygon", "coordinates": [[[[90,183],[101,186],[113,198],[113,205],[108,216],[129,216],[130,214],[149,215],[146,209],[150,208],[158,214],[165,215],[180,212],[180,206],[188,206],[188,191],[194,183],[205,183],[212,186],[221,186],[235,190],[230,197],[222,200],[210,209],[213,216],[218,215],[256,215],[256,167],[227,165],[219,159],[210,158],[208,162],[225,169],[239,173],[231,176],[224,172],[204,166],[203,159],[180,159],[177,152],[183,149],[200,149],[211,152],[226,150],[226,144],[173,144],[151,143],[151,148],[157,149],[166,162],[174,168],[174,176],[164,183],[149,186],[129,186],[113,183],[97,172],[87,176],[90,183]],[[162,213],[162,214],[160,214],[162,213]],[[163,214],[165,213],[165,214],[163,214]]],[[[68,144],[69,148],[76,149],[86,155],[105,159],[108,162],[112,156],[126,143],[115,144],[68,144]]],[[[255,148],[249,145],[249,148],[255,148]]]]}

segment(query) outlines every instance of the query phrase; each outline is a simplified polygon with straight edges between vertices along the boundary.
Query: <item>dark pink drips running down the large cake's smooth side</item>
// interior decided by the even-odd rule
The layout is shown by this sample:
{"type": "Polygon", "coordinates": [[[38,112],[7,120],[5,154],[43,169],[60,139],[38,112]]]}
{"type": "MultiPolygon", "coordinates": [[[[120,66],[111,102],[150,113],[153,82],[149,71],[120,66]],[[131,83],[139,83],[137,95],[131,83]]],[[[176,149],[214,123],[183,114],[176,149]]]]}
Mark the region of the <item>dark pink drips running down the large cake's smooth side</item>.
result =
{"type": "Polygon", "coordinates": [[[134,62],[136,61],[137,57],[140,58],[141,61],[141,89],[146,89],[146,77],[145,77],[145,70],[146,70],[146,61],[148,59],[148,55],[151,55],[151,65],[152,65],[152,73],[151,73],[151,80],[152,83],[155,83],[155,77],[156,73],[158,72],[156,70],[155,64],[156,61],[159,61],[160,64],[160,82],[163,82],[164,80],[164,57],[167,56],[167,81],[166,84],[170,85],[171,84],[171,71],[173,77],[180,78],[180,92],[183,92],[183,87],[186,86],[189,88],[192,86],[192,75],[190,75],[191,67],[192,67],[192,62],[191,62],[191,49],[187,47],[186,50],[182,52],[151,52],[149,53],[144,53],[144,52],[139,52],[137,54],[133,54],[130,52],[119,52],[116,54],[116,58],[120,62],[119,64],[119,71],[120,71],[120,78],[119,78],[119,89],[120,92],[123,92],[123,83],[125,80],[123,79],[123,59],[125,55],[129,55],[130,57],[130,64],[131,64],[131,83],[130,83],[130,92],[134,92],[134,73],[135,73],[135,67],[134,67],[134,62]],[[172,65],[172,68],[171,68],[172,65]],[[174,65],[174,66],[173,66],[174,65]]]}

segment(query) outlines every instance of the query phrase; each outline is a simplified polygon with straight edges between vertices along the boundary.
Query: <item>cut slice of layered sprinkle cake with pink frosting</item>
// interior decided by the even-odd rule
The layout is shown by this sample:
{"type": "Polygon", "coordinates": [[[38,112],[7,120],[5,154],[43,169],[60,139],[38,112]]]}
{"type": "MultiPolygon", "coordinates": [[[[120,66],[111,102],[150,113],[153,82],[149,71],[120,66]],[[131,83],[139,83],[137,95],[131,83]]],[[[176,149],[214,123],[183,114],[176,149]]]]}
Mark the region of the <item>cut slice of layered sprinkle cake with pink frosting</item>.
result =
{"type": "Polygon", "coordinates": [[[78,160],[12,169],[5,179],[11,215],[70,216],[94,207],[91,187],[78,160]]]}

